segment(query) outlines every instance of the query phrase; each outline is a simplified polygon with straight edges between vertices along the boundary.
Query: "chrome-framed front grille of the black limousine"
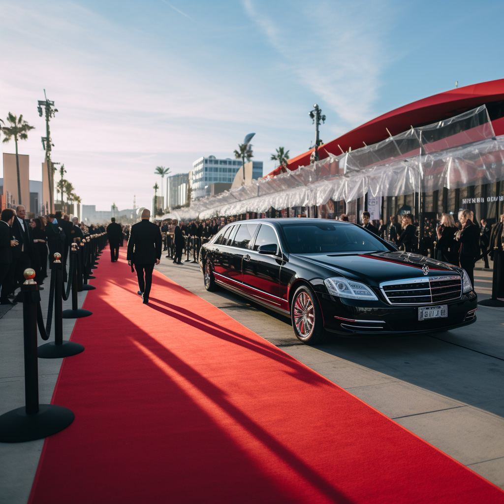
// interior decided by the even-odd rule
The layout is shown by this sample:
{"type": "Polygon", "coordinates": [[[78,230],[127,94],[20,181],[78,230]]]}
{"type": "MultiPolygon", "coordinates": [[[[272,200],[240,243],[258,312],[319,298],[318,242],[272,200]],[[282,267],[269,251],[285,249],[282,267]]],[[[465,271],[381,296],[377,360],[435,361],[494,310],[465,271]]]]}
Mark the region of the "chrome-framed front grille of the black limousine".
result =
{"type": "Polygon", "coordinates": [[[433,304],[460,299],[462,278],[441,276],[383,282],[380,288],[390,304],[433,304]]]}

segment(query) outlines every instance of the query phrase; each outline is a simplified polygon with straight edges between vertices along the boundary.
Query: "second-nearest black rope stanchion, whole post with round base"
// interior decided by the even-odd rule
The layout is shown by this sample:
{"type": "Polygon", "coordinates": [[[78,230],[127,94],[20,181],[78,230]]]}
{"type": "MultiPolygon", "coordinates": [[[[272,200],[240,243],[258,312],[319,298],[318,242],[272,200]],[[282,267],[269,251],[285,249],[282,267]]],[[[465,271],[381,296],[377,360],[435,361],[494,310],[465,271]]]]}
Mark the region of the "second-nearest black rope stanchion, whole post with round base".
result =
{"type": "MultiPolygon", "coordinates": [[[[75,256],[74,256],[75,257],[75,256]]],[[[54,254],[53,269],[51,271],[51,286],[52,276],[54,275],[54,342],[45,343],[38,347],[38,356],[44,359],[57,359],[61,357],[70,357],[84,351],[84,347],[74,341],[63,340],[63,277],[61,254],[54,254]]],[[[75,262],[74,268],[75,269],[75,262]]],[[[71,267],[72,270],[72,267],[71,267]]],[[[69,278],[68,284],[71,286],[72,280],[69,278]]],[[[70,291],[67,292],[65,299],[68,299],[70,291]]],[[[40,326],[39,326],[40,327],[40,326]]],[[[46,338],[44,338],[46,339],[46,338]]]]}

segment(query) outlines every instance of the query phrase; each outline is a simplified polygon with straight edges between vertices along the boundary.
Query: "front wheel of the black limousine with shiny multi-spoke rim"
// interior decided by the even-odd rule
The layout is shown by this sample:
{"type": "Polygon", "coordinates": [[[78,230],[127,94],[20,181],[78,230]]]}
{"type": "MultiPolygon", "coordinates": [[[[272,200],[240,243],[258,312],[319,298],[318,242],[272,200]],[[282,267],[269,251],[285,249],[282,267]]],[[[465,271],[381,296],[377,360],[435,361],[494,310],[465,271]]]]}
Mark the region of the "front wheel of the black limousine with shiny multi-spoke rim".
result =
{"type": "Polygon", "coordinates": [[[301,285],[294,292],[290,318],[294,334],[299,341],[307,345],[317,345],[328,339],[317,296],[307,285],[301,285]]]}

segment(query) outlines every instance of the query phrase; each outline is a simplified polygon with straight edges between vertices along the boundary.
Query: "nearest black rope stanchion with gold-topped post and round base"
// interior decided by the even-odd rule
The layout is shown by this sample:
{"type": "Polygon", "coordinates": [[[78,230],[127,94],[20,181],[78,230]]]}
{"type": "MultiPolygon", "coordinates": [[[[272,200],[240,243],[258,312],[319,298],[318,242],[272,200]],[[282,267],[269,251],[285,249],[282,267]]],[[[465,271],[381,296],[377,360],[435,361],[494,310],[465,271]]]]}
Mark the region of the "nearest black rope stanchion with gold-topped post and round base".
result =
{"type": "MultiPolygon", "coordinates": [[[[40,293],[37,283],[33,280],[35,271],[28,268],[24,276],[26,280],[21,286],[17,299],[23,302],[25,406],[0,416],[0,442],[2,443],[21,443],[41,439],[65,429],[75,418],[74,413],[68,408],[38,402],[37,323],[39,322],[38,314],[41,314],[40,293]]],[[[61,269],[59,276],[62,279],[61,269]]],[[[56,284],[51,274],[51,288],[53,285],[56,284]]],[[[43,339],[48,338],[45,330],[41,332],[41,336],[43,339]]]]}

